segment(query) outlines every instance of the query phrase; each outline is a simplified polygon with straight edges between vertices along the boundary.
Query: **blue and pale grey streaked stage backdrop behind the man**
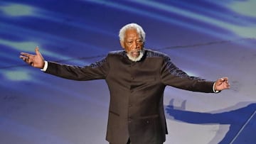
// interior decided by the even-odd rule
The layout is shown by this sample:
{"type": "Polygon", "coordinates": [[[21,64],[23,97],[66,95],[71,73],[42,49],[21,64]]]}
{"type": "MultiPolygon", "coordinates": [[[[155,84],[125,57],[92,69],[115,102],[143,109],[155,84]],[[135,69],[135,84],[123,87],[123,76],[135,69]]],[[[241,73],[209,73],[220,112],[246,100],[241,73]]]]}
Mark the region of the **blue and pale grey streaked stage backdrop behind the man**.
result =
{"type": "Polygon", "coordinates": [[[104,144],[110,94],[104,80],[75,82],[18,58],[88,65],[120,50],[119,28],[139,23],[146,48],[188,74],[229,77],[220,94],[167,87],[166,143],[255,143],[256,1],[0,1],[0,143],[104,144]]]}

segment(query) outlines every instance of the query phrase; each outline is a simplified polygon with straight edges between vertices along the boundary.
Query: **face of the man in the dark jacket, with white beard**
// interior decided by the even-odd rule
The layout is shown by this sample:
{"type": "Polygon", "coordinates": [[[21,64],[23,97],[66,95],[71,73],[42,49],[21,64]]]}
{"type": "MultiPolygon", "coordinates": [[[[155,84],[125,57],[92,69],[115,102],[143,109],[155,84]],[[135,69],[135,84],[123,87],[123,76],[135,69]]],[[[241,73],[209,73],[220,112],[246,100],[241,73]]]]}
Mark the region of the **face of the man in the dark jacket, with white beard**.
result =
{"type": "Polygon", "coordinates": [[[132,57],[134,61],[137,61],[136,59],[143,55],[144,43],[136,29],[128,29],[124,35],[124,41],[120,41],[120,43],[122,48],[127,52],[127,55],[132,57]]]}

